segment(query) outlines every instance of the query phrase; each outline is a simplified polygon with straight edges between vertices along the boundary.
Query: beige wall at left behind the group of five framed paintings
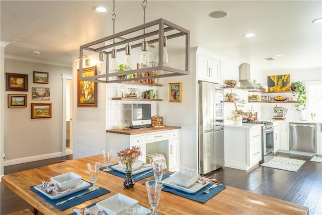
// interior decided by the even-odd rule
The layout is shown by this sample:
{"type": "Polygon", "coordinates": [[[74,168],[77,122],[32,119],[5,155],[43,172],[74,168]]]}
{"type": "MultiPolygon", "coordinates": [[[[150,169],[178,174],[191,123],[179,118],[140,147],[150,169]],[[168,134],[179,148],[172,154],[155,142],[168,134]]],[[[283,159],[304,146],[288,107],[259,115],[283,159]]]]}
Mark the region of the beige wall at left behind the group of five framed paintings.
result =
{"type": "Polygon", "coordinates": [[[49,154],[58,157],[62,152],[61,74],[71,74],[71,68],[5,58],[5,73],[28,74],[28,92],[5,91],[5,165],[28,157],[49,154]],[[33,71],[49,73],[49,84],[34,84],[33,71]],[[50,100],[32,100],[32,87],[49,87],[50,100]],[[8,108],[8,94],[27,94],[27,108],[8,108]],[[52,103],[52,118],[31,119],[30,104],[47,102],[52,103]]]}

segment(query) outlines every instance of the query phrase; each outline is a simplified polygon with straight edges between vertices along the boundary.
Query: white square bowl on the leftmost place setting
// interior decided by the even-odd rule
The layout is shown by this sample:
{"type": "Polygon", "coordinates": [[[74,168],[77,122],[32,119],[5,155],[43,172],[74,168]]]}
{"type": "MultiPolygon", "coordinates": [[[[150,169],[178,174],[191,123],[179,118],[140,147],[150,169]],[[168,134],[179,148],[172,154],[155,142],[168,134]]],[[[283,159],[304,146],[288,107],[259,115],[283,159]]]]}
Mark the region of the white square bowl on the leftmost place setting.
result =
{"type": "Polygon", "coordinates": [[[82,176],[79,176],[73,172],[57,175],[50,178],[51,182],[57,185],[61,190],[73,188],[82,180],[82,176]]]}

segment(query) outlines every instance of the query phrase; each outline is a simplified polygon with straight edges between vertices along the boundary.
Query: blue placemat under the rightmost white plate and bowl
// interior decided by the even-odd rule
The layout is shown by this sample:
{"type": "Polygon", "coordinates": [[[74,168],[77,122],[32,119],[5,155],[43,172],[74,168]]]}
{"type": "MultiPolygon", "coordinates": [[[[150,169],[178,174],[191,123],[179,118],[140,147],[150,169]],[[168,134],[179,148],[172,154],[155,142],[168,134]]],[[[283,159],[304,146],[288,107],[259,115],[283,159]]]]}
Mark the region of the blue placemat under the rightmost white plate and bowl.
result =
{"type": "MultiPolygon", "coordinates": [[[[169,178],[169,176],[171,174],[172,173],[164,174],[163,177],[162,177],[162,180],[165,180],[165,179],[169,178]]],[[[145,185],[145,182],[143,182],[142,184],[145,185]]],[[[211,190],[209,190],[209,193],[202,192],[203,190],[208,189],[211,185],[213,185],[213,183],[207,184],[207,186],[203,187],[202,189],[200,189],[198,192],[195,192],[195,193],[186,193],[184,191],[168,187],[165,184],[164,184],[164,188],[162,190],[166,191],[166,192],[171,192],[173,194],[176,194],[176,195],[179,195],[179,196],[182,196],[182,197],[185,197],[185,198],[189,198],[189,199],[194,200],[194,201],[199,201],[201,203],[205,203],[206,201],[208,201],[210,198],[215,196],[217,193],[219,193],[221,190],[223,190],[226,187],[226,185],[217,184],[216,187],[214,187],[211,190]]]]}

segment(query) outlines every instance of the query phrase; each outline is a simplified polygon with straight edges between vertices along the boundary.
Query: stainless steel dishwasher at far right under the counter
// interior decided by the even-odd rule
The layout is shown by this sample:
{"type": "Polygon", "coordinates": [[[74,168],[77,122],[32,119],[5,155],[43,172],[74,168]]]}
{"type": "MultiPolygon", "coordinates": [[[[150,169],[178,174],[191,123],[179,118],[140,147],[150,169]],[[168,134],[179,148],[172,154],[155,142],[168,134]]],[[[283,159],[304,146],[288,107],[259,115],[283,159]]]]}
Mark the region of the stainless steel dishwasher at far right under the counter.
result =
{"type": "Polygon", "coordinates": [[[316,153],[316,124],[289,123],[290,151],[316,153]]]}

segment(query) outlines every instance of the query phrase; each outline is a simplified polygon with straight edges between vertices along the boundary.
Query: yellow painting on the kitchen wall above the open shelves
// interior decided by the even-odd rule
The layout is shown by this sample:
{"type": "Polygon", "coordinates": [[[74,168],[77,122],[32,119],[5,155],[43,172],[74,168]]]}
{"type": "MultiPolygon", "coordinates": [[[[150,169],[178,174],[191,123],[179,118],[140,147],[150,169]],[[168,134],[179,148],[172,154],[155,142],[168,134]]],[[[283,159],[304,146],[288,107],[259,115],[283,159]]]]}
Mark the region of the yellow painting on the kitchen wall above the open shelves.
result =
{"type": "Polygon", "coordinates": [[[267,77],[268,92],[290,91],[290,75],[267,77]]]}

